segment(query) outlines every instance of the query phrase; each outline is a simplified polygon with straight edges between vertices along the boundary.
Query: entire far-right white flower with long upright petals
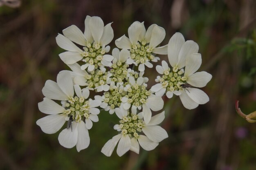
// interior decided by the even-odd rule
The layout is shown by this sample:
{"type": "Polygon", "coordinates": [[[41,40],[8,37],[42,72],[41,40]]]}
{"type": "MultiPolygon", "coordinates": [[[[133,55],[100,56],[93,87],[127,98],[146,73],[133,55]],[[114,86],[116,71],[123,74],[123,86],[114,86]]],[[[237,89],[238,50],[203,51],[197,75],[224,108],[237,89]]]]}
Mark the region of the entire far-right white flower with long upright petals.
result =
{"type": "Polygon", "coordinates": [[[159,83],[152,86],[151,91],[157,96],[162,96],[167,91],[168,98],[173,97],[173,94],[179,95],[183,106],[188,109],[207,103],[207,94],[193,88],[206,86],[212,78],[205,71],[195,73],[202,63],[198,44],[192,40],[185,42],[181,33],[175,33],[168,43],[168,60],[172,68],[165,61],[162,61],[162,66],[156,66],[162,77],[157,76],[156,82],[159,83]]]}

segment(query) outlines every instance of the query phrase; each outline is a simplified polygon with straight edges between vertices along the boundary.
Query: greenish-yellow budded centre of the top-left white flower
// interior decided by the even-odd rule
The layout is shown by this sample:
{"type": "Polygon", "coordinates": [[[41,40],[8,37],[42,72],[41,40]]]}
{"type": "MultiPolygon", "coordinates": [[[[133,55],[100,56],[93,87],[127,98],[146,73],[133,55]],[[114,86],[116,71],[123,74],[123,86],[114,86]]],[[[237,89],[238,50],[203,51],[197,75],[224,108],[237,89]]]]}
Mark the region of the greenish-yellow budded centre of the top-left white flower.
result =
{"type": "Polygon", "coordinates": [[[95,42],[93,42],[92,44],[87,42],[86,46],[83,47],[83,50],[83,62],[94,65],[95,69],[99,68],[102,65],[101,60],[103,58],[103,55],[106,53],[106,51],[102,49],[102,46],[96,44],[95,42]]]}

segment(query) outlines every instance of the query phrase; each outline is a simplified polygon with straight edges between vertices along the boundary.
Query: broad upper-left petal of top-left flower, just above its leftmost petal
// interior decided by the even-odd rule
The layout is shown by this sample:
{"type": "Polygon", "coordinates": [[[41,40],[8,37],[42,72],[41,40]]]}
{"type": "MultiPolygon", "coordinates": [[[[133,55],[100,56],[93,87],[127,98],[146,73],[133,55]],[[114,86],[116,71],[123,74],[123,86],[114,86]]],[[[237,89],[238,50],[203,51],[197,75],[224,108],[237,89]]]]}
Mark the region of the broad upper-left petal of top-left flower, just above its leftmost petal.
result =
{"type": "Polygon", "coordinates": [[[64,29],[62,32],[65,35],[65,37],[75,42],[76,44],[79,44],[82,46],[86,45],[85,36],[77,26],[71,25],[66,29],[64,29]]]}

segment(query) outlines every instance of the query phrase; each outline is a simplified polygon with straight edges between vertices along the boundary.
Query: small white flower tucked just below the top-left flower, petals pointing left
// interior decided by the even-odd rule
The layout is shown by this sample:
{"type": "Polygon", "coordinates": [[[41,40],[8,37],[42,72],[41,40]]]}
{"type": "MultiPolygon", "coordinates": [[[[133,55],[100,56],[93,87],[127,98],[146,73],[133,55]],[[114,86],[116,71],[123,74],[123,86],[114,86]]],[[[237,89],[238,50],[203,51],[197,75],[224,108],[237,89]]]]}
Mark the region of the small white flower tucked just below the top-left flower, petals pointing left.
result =
{"type": "Polygon", "coordinates": [[[77,63],[67,64],[73,71],[74,83],[79,86],[86,86],[89,90],[96,90],[97,92],[108,91],[111,83],[111,74],[106,72],[106,68],[101,67],[100,70],[91,71],[87,73],[80,69],[77,63]]]}

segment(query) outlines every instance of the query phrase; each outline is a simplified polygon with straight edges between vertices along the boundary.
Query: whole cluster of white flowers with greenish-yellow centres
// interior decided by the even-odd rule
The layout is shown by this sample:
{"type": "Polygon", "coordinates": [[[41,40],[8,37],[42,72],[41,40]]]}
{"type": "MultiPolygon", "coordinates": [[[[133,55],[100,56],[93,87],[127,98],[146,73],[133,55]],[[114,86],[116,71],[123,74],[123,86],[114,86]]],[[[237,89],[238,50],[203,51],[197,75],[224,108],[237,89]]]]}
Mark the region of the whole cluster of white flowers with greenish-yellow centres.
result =
{"type": "Polygon", "coordinates": [[[128,37],[123,35],[115,41],[121,50],[114,48],[110,55],[108,44],[113,38],[111,23],[104,26],[96,16],[85,18],[84,33],[72,25],[56,37],[58,46],[66,50],[59,56],[72,71],[61,71],[56,82],[45,82],[45,98],[38,108],[48,116],[36,124],[52,134],[66,123],[58,136],[65,148],[76,146],[78,152],[87,148],[92,122],[98,122],[100,110],[106,110],[115,113],[120,121],[114,126],[118,135],[101,150],[104,155],[112,155],[117,144],[119,156],[128,150],[139,154],[139,146],[153,150],[168,137],[166,130],[158,126],[164,120],[164,111],[152,116],[152,111],[164,107],[164,94],[168,98],[179,95],[189,109],[209,101],[203,91],[193,88],[204,87],[211,79],[207,72],[195,73],[202,62],[195,42],[185,42],[182,34],[175,33],[167,45],[159,46],[165,30],[156,24],[146,30],[144,22],[138,21],[128,28],[128,37]],[[145,66],[153,68],[152,62],[160,60],[156,55],[166,54],[171,68],[165,61],[156,66],[162,76],[157,76],[158,84],[148,88],[145,66]],[[99,94],[93,99],[90,91],[99,94]]]}

